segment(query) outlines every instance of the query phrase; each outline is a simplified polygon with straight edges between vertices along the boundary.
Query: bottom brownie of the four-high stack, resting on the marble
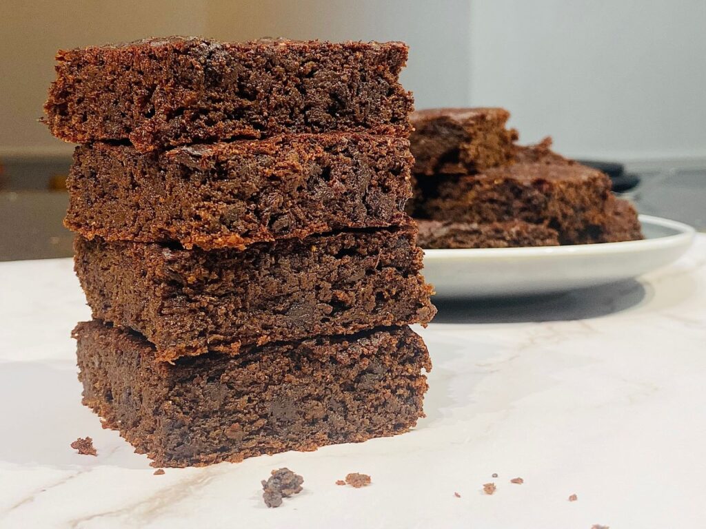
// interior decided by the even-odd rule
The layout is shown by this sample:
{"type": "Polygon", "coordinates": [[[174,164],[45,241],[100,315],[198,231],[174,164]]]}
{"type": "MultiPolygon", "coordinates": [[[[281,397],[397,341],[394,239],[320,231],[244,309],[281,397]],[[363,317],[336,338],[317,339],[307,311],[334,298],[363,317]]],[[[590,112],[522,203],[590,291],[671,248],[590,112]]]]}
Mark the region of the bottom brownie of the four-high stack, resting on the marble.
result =
{"type": "Polygon", "coordinates": [[[424,416],[431,363],[409,327],[155,359],[142,336],[78,324],[83,403],[154,466],[241,461],[399,434],[424,416]]]}

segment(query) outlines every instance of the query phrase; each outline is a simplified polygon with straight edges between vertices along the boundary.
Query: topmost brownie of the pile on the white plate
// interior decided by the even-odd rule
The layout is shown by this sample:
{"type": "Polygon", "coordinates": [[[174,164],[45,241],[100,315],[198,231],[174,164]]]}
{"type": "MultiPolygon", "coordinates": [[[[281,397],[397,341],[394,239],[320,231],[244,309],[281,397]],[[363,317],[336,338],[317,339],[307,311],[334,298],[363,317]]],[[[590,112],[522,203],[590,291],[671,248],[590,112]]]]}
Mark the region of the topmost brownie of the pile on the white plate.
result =
{"type": "Polygon", "coordinates": [[[510,162],[517,131],[498,108],[427,109],[410,116],[414,173],[474,174],[510,162]]]}

